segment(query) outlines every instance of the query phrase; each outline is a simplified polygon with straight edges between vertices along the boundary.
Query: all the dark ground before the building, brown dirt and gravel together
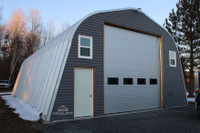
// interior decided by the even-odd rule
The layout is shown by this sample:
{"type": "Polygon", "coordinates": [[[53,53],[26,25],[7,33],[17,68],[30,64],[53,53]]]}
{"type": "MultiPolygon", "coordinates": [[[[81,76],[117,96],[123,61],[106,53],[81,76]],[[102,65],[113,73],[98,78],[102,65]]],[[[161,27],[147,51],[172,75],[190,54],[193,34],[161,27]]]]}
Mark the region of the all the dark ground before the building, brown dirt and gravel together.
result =
{"type": "Polygon", "coordinates": [[[0,133],[198,133],[194,106],[43,124],[20,119],[0,98],[0,133]]]}

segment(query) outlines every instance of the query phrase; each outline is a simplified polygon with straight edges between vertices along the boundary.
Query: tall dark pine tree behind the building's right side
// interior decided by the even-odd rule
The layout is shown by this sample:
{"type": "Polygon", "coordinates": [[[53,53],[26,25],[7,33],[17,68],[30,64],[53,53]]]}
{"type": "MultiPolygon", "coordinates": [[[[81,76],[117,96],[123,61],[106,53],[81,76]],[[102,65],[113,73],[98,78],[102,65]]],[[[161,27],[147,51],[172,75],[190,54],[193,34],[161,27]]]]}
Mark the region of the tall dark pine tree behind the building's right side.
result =
{"type": "Polygon", "coordinates": [[[189,68],[189,96],[193,96],[194,67],[199,65],[200,60],[200,1],[179,0],[176,7],[177,10],[172,9],[164,26],[179,46],[182,66],[189,68]]]}

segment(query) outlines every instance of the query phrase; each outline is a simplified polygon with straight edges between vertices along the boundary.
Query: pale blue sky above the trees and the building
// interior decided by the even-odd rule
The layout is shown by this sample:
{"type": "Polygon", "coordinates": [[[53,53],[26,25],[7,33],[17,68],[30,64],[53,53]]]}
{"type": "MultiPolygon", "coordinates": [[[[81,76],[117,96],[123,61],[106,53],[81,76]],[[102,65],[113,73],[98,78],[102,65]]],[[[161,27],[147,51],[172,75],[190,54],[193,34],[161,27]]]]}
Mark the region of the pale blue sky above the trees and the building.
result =
{"type": "Polygon", "coordinates": [[[163,25],[178,0],[0,0],[3,20],[10,18],[15,8],[21,8],[26,15],[31,8],[40,10],[43,23],[53,21],[56,28],[63,24],[74,24],[87,14],[116,8],[142,8],[142,11],[163,25]]]}

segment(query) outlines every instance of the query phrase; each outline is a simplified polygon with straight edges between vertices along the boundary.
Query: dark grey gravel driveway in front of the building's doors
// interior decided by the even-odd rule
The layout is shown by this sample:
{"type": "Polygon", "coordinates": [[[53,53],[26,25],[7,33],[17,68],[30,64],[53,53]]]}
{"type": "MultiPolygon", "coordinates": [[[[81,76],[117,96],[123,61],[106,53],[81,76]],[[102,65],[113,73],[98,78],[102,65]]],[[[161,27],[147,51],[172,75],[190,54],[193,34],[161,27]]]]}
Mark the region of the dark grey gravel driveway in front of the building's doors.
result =
{"type": "Polygon", "coordinates": [[[194,107],[147,111],[41,125],[39,132],[66,133],[199,133],[194,107]]]}

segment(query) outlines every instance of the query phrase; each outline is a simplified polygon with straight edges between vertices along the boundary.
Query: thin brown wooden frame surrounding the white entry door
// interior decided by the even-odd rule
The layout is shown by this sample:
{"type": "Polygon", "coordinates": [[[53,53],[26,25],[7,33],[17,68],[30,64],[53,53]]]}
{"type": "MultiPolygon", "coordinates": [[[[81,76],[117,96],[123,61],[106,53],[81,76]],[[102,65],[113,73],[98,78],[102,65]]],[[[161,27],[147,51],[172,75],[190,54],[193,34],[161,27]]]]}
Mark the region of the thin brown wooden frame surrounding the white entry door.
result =
{"type": "MultiPolygon", "coordinates": [[[[92,69],[92,71],[93,71],[93,104],[92,104],[92,108],[93,108],[93,110],[92,110],[92,116],[91,117],[93,117],[94,116],[94,113],[95,113],[95,68],[93,68],[93,67],[74,67],[73,68],[73,118],[74,119],[76,119],[76,117],[75,117],[75,70],[76,69],[92,69]]],[[[84,117],[84,116],[83,116],[84,117]]]]}

